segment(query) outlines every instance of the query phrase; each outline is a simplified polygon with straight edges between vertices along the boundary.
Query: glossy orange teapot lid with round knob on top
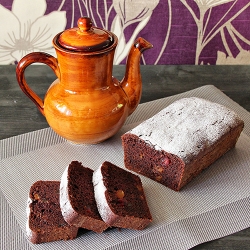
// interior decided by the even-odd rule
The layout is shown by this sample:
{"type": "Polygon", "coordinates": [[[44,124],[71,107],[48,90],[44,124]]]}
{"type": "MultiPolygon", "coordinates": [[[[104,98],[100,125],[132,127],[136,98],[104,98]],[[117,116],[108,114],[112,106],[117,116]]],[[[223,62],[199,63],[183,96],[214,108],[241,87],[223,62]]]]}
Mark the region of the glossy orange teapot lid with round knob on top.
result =
{"type": "Polygon", "coordinates": [[[77,52],[93,52],[103,50],[113,44],[111,32],[93,27],[89,17],[81,17],[78,27],[65,30],[58,37],[58,43],[66,49],[77,52]]]}

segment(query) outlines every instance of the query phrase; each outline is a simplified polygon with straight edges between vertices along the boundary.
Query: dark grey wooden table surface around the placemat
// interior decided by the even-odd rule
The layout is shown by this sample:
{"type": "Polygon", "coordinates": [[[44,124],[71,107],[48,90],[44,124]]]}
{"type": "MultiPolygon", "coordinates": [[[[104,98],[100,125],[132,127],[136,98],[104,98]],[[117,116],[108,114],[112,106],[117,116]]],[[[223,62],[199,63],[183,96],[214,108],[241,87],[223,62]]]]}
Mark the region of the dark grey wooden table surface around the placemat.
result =
{"type": "MultiPolygon", "coordinates": [[[[113,75],[121,80],[124,71],[124,66],[114,66],[113,75]]],[[[141,66],[141,73],[141,103],[212,84],[250,112],[250,66],[141,66]]],[[[44,65],[28,67],[25,75],[41,98],[55,79],[52,70],[44,65]]],[[[0,139],[46,127],[46,119],[21,91],[15,66],[0,65],[0,139]]],[[[193,249],[250,249],[250,228],[193,249]]]]}

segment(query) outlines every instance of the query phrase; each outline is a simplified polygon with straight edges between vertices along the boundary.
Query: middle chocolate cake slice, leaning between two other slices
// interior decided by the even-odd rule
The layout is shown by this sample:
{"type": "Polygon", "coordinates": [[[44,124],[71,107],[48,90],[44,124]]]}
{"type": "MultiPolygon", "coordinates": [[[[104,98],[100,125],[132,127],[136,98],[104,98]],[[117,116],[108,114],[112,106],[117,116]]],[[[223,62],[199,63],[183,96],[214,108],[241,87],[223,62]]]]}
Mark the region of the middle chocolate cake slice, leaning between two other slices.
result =
{"type": "Polygon", "coordinates": [[[92,169],[72,161],[61,178],[60,206],[70,225],[101,233],[108,225],[97,210],[92,175],[92,169]]]}

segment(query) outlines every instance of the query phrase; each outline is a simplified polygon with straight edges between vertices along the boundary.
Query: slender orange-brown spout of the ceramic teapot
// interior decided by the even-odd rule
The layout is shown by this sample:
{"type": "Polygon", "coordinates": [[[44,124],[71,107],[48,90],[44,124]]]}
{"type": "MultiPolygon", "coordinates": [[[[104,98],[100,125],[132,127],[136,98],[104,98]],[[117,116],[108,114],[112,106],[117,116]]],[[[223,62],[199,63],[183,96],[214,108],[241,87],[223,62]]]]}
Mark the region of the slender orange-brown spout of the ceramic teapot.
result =
{"type": "Polygon", "coordinates": [[[127,57],[126,72],[121,87],[128,97],[129,115],[134,112],[141,100],[142,80],[140,72],[140,58],[146,49],[152,48],[153,45],[144,38],[137,38],[132,45],[127,57]]]}

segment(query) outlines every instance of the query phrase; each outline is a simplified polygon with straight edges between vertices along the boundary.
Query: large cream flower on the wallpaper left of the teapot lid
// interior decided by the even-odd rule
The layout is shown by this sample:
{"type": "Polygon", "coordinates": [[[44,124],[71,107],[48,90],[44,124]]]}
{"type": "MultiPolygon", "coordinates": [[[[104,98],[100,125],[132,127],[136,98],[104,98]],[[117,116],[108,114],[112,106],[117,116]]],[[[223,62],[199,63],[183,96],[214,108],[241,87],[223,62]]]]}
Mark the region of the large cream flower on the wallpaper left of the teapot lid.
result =
{"type": "Polygon", "coordinates": [[[34,51],[55,53],[52,39],[65,28],[66,13],[44,15],[46,6],[45,0],[14,0],[11,11],[0,5],[0,64],[13,64],[34,51]]]}

